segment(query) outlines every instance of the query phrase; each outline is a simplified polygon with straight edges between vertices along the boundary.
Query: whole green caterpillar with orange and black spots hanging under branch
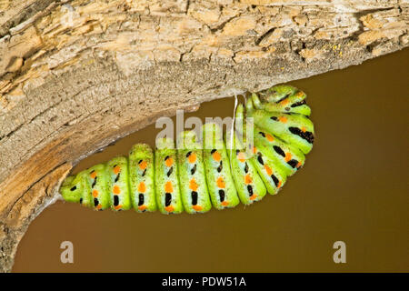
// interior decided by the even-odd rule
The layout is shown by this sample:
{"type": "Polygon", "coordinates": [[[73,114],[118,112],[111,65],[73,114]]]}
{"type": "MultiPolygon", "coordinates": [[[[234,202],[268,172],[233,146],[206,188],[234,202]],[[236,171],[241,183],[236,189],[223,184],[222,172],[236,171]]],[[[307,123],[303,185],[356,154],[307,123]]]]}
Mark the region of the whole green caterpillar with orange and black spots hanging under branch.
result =
{"type": "Polygon", "coordinates": [[[207,123],[200,137],[195,131],[178,135],[177,148],[168,137],[156,141],[155,151],[137,144],[128,157],[117,156],[68,176],[60,193],[67,202],[96,210],[133,208],[141,213],[197,214],[212,206],[251,205],[267,193],[277,194],[287,177],[304,166],[314,143],[305,99],[304,92],[291,85],[252,93],[237,105],[231,135],[207,123]],[[248,128],[253,143],[240,138],[248,128]]]}

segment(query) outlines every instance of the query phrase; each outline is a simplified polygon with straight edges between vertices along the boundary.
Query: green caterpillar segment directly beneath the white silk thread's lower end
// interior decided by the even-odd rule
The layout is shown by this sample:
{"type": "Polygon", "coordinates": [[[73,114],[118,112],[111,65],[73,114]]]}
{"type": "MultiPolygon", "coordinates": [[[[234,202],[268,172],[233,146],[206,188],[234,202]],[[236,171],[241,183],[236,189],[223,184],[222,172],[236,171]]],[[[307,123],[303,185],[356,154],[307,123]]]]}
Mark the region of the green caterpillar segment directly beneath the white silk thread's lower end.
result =
{"type": "Polygon", "coordinates": [[[240,201],[244,205],[250,205],[260,201],[267,190],[262,178],[258,175],[251,156],[245,151],[245,146],[240,142],[237,135],[226,136],[226,145],[232,145],[227,149],[230,159],[234,185],[240,201]]]}

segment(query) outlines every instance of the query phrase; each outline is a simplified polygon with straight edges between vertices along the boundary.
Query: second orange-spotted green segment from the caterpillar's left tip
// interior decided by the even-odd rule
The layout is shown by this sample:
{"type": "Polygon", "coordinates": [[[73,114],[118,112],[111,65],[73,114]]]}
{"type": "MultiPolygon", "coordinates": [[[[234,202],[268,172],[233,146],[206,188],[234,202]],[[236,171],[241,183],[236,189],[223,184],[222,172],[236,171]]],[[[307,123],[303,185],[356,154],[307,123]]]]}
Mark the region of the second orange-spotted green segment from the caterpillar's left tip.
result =
{"type": "Polygon", "coordinates": [[[111,208],[115,211],[131,209],[131,196],[128,183],[128,159],[117,156],[106,163],[108,191],[111,197],[111,208]]]}

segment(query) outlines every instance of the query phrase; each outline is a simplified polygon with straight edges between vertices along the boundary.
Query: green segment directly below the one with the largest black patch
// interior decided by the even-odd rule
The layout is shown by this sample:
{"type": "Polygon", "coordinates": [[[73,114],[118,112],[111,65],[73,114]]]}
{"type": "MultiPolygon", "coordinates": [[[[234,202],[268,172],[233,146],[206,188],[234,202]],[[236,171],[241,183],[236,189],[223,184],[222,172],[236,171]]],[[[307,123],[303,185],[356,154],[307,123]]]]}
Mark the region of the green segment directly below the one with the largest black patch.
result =
{"type": "Polygon", "coordinates": [[[254,126],[254,145],[264,146],[264,151],[272,156],[275,164],[281,166],[287,176],[304,166],[305,156],[298,148],[284,143],[278,137],[271,135],[258,126],[254,126]]]}

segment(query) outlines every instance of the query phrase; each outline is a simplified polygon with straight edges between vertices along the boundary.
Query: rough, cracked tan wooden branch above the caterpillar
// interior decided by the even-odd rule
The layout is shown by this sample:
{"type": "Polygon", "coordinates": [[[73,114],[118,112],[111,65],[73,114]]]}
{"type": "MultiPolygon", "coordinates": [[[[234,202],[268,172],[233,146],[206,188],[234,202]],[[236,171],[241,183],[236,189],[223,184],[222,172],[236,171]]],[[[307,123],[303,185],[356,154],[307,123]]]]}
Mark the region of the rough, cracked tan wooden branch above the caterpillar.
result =
{"type": "Polygon", "coordinates": [[[0,0],[0,271],[73,164],[176,108],[407,46],[408,0],[0,0]]]}

